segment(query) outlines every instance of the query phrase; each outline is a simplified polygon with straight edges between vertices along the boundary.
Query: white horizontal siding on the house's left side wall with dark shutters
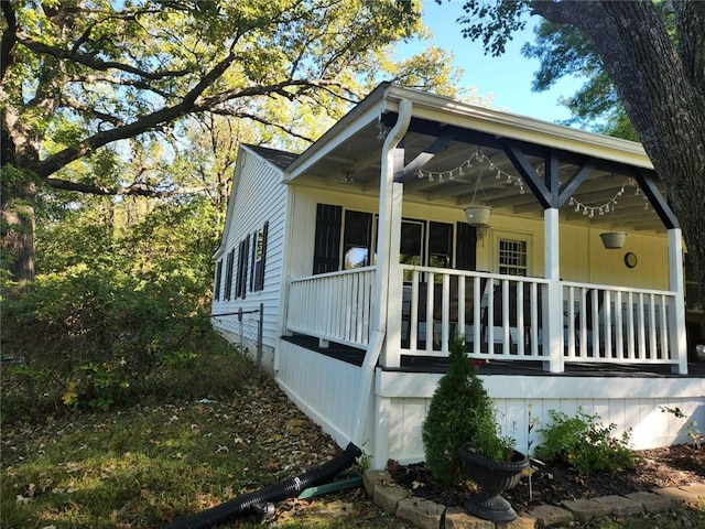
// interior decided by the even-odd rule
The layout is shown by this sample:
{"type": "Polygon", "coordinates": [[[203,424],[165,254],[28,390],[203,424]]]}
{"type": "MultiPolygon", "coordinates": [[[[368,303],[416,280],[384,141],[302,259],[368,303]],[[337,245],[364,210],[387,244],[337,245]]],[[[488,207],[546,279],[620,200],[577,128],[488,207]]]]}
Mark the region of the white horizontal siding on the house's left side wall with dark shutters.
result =
{"type": "MultiPolygon", "coordinates": [[[[257,311],[260,303],[264,306],[262,343],[263,366],[272,369],[273,352],[279,338],[278,319],[280,310],[280,293],[282,285],[282,261],[284,251],[284,228],[286,210],[286,186],[282,183],[282,172],[271,163],[251,151],[241,150],[238,163],[241,165],[237,186],[230,196],[229,218],[224,234],[220,258],[223,259],[223,274],[220,284],[220,301],[212,304],[212,314],[227,314],[242,311],[257,311]],[[248,258],[248,290],[245,299],[231,296],[224,300],[226,263],[228,252],[235,248],[235,273],[237,271],[238,246],[251,234],[269,222],[267,234],[267,256],[264,269],[264,289],[258,292],[249,290],[251,266],[248,258]]],[[[234,287],[235,290],[235,287],[234,287]]],[[[243,317],[243,334],[249,338],[246,346],[250,355],[254,355],[253,338],[257,336],[257,321],[259,314],[246,314],[243,317]]],[[[236,315],[213,317],[213,325],[235,345],[240,343],[240,324],[236,315]]]]}

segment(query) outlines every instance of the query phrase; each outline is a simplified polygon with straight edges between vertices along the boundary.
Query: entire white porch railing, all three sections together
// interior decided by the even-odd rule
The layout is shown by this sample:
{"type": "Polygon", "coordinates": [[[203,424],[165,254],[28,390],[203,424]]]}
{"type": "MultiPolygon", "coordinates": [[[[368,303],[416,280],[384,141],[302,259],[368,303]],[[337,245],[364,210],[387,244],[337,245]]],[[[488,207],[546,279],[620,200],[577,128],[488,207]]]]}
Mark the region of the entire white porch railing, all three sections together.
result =
{"type": "MultiPolygon", "coordinates": [[[[563,332],[547,350],[547,284],[542,278],[401,264],[401,325],[387,347],[403,355],[448,355],[455,333],[474,358],[563,363],[679,363],[677,335],[670,332],[675,293],[561,282],[563,332]],[[558,339],[560,338],[560,339],[558,339]]],[[[359,349],[369,344],[375,267],[292,279],[289,332],[359,349]]],[[[560,328],[560,327],[558,327],[560,328]]],[[[683,353],[684,354],[684,353],[683,353]]]]}

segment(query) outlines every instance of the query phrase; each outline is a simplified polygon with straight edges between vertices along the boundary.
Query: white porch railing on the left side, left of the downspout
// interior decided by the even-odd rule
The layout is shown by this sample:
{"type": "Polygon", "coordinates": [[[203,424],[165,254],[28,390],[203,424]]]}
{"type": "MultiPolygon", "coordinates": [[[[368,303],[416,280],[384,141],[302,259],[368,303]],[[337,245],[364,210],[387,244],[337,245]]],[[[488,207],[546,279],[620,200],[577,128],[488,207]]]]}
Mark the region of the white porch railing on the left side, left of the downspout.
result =
{"type": "Polygon", "coordinates": [[[375,271],[366,267],[290,280],[288,330],[366,349],[375,271]]]}

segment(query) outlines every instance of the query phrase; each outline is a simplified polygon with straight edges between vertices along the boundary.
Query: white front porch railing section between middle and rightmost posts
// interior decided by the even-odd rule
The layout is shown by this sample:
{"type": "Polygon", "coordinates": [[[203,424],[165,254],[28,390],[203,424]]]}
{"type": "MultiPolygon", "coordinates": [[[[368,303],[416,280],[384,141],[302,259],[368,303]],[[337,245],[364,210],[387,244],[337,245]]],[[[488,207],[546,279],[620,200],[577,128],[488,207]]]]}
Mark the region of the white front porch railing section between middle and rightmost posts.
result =
{"type": "Polygon", "coordinates": [[[677,364],[675,293],[563,282],[565,361],[677,364]]]}

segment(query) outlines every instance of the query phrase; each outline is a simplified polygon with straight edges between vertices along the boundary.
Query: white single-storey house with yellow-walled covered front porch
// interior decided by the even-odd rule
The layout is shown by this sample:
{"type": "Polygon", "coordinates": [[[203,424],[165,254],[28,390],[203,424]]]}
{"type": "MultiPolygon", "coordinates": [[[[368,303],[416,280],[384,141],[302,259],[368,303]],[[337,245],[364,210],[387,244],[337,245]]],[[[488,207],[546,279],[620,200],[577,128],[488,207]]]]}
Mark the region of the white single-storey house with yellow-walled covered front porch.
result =
{"type": "Polygon", "coordinates": [[[520,449],[578,409],[654,447],[687,441],[661,407],[705,423],[683,253],[640,144],[382,84],[299,155],[240,148],[213,322],[261,306],[267,369],[375,467],[424,458],[455,333],[520,449]]]}

